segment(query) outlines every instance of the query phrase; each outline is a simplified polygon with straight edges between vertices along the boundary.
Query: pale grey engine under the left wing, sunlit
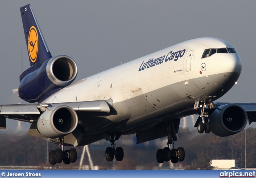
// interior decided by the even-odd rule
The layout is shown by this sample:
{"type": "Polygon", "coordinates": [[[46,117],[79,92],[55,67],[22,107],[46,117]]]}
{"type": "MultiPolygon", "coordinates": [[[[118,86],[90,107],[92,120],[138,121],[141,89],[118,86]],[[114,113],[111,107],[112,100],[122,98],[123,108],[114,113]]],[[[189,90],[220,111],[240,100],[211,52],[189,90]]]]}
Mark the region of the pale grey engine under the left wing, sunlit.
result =
{"type": "Polygon", "coordinates": [[[68,135],[78,124],[76,112],[68,106],[55,106],[44,111],[37,121],[38,131],[47,138],[68,135]]]}

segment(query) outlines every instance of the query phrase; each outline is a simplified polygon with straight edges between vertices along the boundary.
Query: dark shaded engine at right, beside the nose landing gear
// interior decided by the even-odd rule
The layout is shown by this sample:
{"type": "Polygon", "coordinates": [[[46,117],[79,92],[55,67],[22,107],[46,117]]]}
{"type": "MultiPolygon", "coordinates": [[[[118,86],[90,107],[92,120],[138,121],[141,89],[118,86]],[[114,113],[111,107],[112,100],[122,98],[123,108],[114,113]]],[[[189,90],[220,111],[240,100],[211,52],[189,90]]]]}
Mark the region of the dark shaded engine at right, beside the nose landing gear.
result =
{"type": "Polygon", "coordinates": [[[234,135],[247,124],[247,113],[237,104],[220,106],[210,115],[211,131],[220,137],[234,135]]]}

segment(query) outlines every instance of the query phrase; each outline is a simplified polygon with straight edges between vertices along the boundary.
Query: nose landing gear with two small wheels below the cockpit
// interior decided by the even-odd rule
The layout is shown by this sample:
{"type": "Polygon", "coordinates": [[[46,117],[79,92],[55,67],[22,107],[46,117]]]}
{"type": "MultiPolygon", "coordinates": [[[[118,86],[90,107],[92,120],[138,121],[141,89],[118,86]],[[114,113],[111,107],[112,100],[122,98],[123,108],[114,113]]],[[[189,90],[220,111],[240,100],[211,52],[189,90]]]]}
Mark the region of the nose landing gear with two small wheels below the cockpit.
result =
{"type": "Polygon", "coordinates": [[[200,121],[197,125],[197,131],[198,133],[210,133],[211,132],[211,125],[208,119],[208,113],[204,112],[204,108],[206,107],[206,104],[204,103],[203,106],[200,105],[201,108],[201,115],[200,117],[200,121]]]}

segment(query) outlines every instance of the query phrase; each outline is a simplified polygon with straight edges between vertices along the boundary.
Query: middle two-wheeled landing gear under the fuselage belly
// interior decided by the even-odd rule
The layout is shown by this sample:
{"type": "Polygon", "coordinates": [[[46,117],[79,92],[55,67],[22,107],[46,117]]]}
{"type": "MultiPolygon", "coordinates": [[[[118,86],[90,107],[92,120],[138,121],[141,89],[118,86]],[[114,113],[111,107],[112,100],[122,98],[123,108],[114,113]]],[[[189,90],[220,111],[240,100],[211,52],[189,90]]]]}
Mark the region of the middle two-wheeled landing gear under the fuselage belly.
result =
{"type": "Polygon", "coordinates": [[[124,158],[124,151],[122,147],[116,148],[116,140],[120,138],[121,134],[114,136],[113,134],[110,137],[110,142],[112,147],[106,148],[105,157],[107,161],[112,161],[114,156],[117,161],[122,161],[124,158]]]}

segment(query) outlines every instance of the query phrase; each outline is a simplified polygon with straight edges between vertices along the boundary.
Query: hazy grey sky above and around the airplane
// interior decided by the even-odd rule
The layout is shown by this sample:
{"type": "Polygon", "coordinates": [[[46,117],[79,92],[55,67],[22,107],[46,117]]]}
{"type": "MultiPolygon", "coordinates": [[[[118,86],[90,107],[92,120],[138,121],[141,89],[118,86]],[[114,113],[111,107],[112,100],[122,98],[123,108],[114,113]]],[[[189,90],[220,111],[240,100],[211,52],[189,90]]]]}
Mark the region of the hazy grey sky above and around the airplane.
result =
{"type": "Polygon", "coordinates": [[[20,16],[26,4],[31,4],[52,55],[76,61],[76,80],[182,41],[217,37],[235,47],[243,66],[238,84],[218,102],[256,102],[255,0],[0,2],[0,104],[22,101],[12,90],[19,85],[22,59],[24,70],[29,67],[20,16]]]}

